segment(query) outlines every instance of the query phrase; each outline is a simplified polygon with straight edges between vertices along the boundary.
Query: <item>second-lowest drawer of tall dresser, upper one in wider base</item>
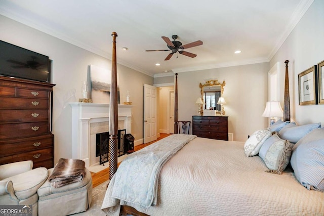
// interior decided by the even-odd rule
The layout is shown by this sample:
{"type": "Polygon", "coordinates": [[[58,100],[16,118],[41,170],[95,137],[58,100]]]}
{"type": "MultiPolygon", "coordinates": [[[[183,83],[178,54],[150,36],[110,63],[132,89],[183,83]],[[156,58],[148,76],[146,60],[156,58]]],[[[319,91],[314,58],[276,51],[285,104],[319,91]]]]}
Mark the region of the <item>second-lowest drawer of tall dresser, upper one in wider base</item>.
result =
{"type": "Polygon", "coordinates": [[[49,148],[54,145],[54,135],[0,142],[0,157],[21,152],[49,148]]]}

